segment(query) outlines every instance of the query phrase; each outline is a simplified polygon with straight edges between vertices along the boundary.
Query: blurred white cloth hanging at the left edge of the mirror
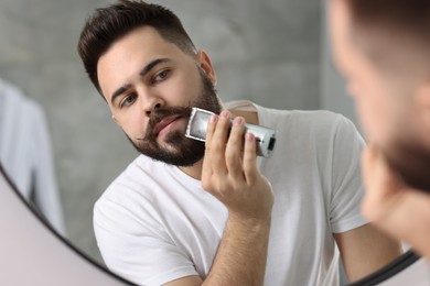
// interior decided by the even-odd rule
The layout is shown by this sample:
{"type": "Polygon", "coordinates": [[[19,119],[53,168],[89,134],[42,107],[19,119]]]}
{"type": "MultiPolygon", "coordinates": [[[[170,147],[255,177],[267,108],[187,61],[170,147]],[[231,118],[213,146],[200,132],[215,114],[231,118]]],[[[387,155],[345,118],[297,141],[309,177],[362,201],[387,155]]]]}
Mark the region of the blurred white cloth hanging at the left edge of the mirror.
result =
{"type": "Polygon", "coordinates": [[[51,134],[43,107],[0,78],[0,164],[23,198],[65,235],[51,134]]]}

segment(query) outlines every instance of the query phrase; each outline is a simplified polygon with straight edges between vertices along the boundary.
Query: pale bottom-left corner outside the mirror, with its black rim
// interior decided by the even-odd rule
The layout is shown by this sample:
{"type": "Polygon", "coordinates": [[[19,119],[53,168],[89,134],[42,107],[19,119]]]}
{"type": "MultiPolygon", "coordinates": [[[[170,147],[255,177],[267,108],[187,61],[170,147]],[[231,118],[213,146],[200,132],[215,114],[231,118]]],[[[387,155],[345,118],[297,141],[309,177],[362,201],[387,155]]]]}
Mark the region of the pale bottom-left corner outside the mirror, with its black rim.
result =
{"type": "Polygon", "coordinates": [[[0,164],[0,285],[133,285],[89,258],[30,207],[0,164]]]}

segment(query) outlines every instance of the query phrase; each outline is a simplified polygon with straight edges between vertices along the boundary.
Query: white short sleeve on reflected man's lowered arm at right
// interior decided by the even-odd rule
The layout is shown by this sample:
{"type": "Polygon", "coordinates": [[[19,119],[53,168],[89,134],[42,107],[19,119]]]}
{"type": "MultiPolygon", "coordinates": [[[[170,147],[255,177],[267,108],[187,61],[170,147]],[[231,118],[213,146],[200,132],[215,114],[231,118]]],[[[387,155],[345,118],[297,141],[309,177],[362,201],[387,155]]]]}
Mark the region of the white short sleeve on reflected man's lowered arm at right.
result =
{"type": "Polygon", "coordinates": [[[359,162],[364,145],[364,140],[355,125],[345,117],[341,117],[335,129],[332,151],[330,221],[334,233],[367,223],[359,212],[363,199],[359,162]]]}

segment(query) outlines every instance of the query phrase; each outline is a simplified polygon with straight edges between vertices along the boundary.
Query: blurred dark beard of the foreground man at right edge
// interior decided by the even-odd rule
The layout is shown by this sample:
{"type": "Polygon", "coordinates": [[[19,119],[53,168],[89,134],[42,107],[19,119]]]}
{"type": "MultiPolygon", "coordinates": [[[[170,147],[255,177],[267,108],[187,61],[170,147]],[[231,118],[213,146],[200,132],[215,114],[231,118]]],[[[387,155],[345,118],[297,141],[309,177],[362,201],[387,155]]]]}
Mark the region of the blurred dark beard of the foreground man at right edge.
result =
{"type": "MultiPolygon", "coordinates": [[[[404,136],[405,138],[405,136],[404,136]]],[[[417,140],[397,140],[383,148],[388,165],[409,187],[430,193],[430,151],[417,140]]]]}

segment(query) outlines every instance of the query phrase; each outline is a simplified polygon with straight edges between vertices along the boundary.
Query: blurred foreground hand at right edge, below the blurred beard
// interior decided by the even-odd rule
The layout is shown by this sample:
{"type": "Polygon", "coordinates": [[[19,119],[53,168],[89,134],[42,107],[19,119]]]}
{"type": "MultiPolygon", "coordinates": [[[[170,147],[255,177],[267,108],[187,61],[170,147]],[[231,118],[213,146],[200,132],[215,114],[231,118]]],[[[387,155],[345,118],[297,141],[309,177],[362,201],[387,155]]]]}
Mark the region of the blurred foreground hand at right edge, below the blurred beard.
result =
{"type": "Polygon", "coordinates": [[[364,216],[430,261],[430,194],[405,185],[374,145],[364,151],[362,163],[364,216]]]}

